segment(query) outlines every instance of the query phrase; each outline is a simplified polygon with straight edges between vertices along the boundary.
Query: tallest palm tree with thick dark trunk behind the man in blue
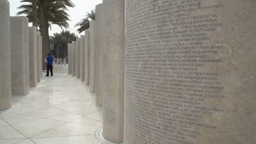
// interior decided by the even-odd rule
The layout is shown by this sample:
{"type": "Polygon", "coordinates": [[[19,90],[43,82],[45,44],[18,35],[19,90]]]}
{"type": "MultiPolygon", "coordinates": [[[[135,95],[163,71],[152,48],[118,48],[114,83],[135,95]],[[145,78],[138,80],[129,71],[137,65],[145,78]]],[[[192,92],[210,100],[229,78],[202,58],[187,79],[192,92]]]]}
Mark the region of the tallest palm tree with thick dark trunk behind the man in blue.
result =
{"type": "MultiPolygon", "coordinates": [[[[35,21],[35,13],[33,12],[33,1],[35,0],[21,0],[20,2],[28,3],[20,6],[20,12],[17,15],[27,15],[29,22],[35,21]],[[33,17],[34,16],[34,17],[33,17]]],[[[43,59],[50,52],[49,42],[49,28],[51,24],[56,24],[61,28],[68,28],[68,13],[67,7],[74,7],[71,0],[36,0],[37,4],[37,19],[39,21],[40,32],[43,39],[43,59]]],[[[45,63],[44,67],[45,67],[45,63]]]]}

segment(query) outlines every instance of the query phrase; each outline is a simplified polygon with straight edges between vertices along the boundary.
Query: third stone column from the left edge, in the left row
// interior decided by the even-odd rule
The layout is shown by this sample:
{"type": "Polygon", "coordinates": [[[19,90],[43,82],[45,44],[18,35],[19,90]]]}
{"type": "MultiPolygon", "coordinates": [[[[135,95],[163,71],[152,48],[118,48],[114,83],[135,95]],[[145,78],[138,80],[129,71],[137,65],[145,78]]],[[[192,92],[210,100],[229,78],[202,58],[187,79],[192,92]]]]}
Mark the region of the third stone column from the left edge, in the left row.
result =
{"type": "Polygon", "coordinates": [[[37,32],[36,27],[29,27],[29,86],[37,86],[37,32]]]}

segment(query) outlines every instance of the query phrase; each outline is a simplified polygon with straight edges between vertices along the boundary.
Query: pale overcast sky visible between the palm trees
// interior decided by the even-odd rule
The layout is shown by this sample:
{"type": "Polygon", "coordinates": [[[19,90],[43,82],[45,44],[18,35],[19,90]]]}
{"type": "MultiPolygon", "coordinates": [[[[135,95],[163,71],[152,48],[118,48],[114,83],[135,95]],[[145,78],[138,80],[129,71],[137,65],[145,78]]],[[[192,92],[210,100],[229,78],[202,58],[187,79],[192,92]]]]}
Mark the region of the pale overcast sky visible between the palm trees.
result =
{"type": "MultiPolygon", "coordinates": [[[[10,16],[16,16],[16,13],[19,12],[19,7],[21,5],[20,0],[8,0],[10,2],[10,16]]],[[[86,12],[90,12],[95,9],[97,4],[102,3],[102,0],[71,0],[72,3],[75,4],[74,8],[68,8],[68,14],[70,15],[68,21],[69,31],[72,33],[76,33],[76,35],[84,35],[83,33],[79,34],[74,28],[75,24],[83,19],[86,15],[86,12]]],[[[31,24],[29,24],[31,26],[31,24]]],[[[49,35],[53,35],[53,33],[59,33],[61,30],[60,27],[56,25],[52,25],[51,29],[49,29],[49,35]]]]}

